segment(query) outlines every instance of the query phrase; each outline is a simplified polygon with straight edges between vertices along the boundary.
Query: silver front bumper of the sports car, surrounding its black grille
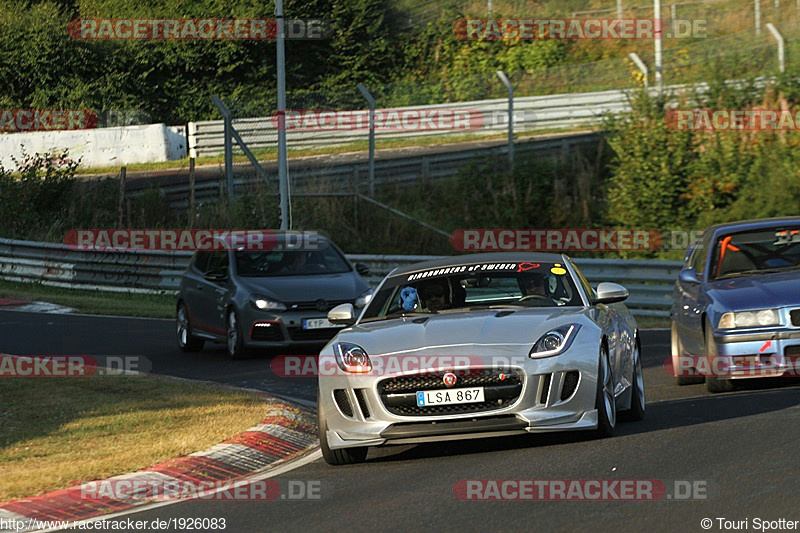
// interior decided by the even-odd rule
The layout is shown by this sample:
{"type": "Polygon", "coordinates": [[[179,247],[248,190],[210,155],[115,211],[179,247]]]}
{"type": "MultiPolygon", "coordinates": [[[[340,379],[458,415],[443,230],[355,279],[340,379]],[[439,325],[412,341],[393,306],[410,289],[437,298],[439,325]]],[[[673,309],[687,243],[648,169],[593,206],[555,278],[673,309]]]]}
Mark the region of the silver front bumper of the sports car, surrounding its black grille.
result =
{"type": "MultiPolygon", "coordinates": [[[[325,438],[330,448],[337,449],[593,429],[597,427],[596,351],[596,346],[576,342],[566,353],[556,357],[516,356],[513,361],[517,364],[503,365],[502,370],[521,376],[518,397],[500,408],[480,412],[430,416],[397,414],[396,409],[386,405],[381,381],[397,376],[417,376],[419,372],[321,376],[319,402],[328,426],[325,438]],[[577,384],[568,383],[570,373],[570,380],[577,374],[577,384]]],[[[482,359],[480,364],[438,370],[463,374],[497,368],[496,358],[477,357],[482,359]]]]}

